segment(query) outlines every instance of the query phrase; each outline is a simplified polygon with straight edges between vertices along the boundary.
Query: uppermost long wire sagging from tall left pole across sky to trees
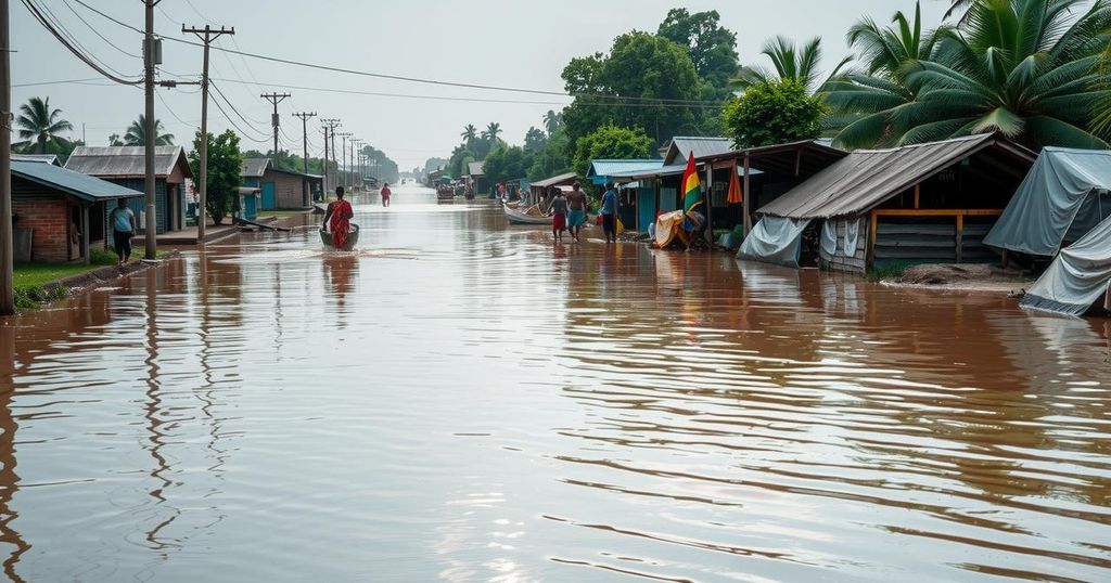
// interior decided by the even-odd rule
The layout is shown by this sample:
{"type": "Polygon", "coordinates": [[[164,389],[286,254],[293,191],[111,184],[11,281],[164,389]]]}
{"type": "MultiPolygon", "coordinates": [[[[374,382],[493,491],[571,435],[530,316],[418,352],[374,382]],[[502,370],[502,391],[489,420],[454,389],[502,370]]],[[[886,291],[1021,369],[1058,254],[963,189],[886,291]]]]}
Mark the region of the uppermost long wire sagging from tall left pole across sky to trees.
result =
{"type": "MultiPolygon", "coordinates": [[[[24,0],[24,1],[27,1],[27,0],[24,0]]],[[[114,17],[111,17],[110,14],[107,14],[107,13],[104,13],[104,12],[102,12],[102,11],[100,11],[100,10],[91,7],[91,6],[89,6],[88,3],[84,2],[84,0],[73,0],[73,1],[77,2],[77,3],[79,3],[79,4],[81,4],[81,6],[83,6],[83,7],[86,7],[87,9],[89,9],[89,10],[91,10],[93,12],[97,12],[101,17],[103,17],[103,18],[106,18],[108,20],[111,20],[112,22],[116,22],[117,24],[119,24],[121,27],[131,29],[131,30],[133,30],[136,32],[142,32],[138,28],[132,27],[131,24],[128,24],[128,23],[126,23],[126,22],[123,22],[121,20],[118,20],[114,17]]],[[[193,42],[193,41],[184,40],[184,39],[176,39],[176,38],[167,37],[166,40],[169,40],[169,41],[172,41],[172,42],[178,42],[178,43],[181,43],[181,44],[190,44],[190,46],[193,46],[193,47],[203,47],[203,43],[193,42]]],[[[302,68],[307,68],[307,69],[316,69],[316,70],[320,70],[320,71],[330,71],[330,72],[336,72],[336,73],[353,74],[353,76],[359,76],[359,77],[370,77],[370,78],[374,78],[374,79],[388,79],[388,80],[392,80],[392,81],[404,81],[404,82],[410,82],[410,83],[432,84],[432,86],[439,86],[439,87],[456,87],[456,88],[463,88],[463,89],[480,89],[480,90],[487,90],[487,91],[504,91],[504,92],[512,92],[512,93],[529,93],[529,94],[552,96],[552,97],[562,97],[562,98],[588,97],[588,98],[595,98],[595,99],[609,99],[609,100],[615,100],[615,101],[633,101],[633,102],[641,102],[641,103],[650,103],[650,104],[653,104],[653,105],[713,107],[713,108],[720,108],[721,105],[724,104],[724,102],[721,102],[721,101],[699,101],[699,100],[670,99],[670,98],[643,98],[643,97],[634,97],[634,96],[611,96],[611,94],[605,94],[605,93],[585,93],[585,92],[582,92],[582,93],[569,93],[569,92],[565,92],[565,91],[551,91],[551,90],[542,90],[542,89],[523,89],[523,88],[502,87],[502,86],[489,86],[489,84],[481,84],[481,83],[463,83],[463,82],[454,82],[454,81],[442,81],[442,80],[437,80],[437,79],[424,79],[424,78],[418,78],[418,77],[404,77],[404,76],[397,76],[397,74],[378,73],[378,72],[372,72],[372,71],[359,71],[359,70],[356,70],[356,69],[346,69],[346,68],[341,68],[341,67],[332,67],[332,66],[327,66],[327,64],[310,63],[310,62],[304,62],[304,61],[294,61],[292,59],[284,59],[284,58],[281,58],[281,57],[271,57],[271,56],[268,56],[268,54],[260,54],[260,53],[248,52],[248,51],[242,51],[242,50],[233,50],[233,49],[228,49],[228,48],[223,48],[223,47],[214,47],[213,46],[213,47],[211,47],[211,49],[212,50],[217,50],[217,51],[232,53],[232,54],[239,54],[241,57],[250,57],[252,59],[258,59],[258,60],[262,60],[262,61],[276,62],[276,63],[281,63],[281,64],[289,64],[289,66],[293,66],[293,67],[302,67],[302,68]]]]}

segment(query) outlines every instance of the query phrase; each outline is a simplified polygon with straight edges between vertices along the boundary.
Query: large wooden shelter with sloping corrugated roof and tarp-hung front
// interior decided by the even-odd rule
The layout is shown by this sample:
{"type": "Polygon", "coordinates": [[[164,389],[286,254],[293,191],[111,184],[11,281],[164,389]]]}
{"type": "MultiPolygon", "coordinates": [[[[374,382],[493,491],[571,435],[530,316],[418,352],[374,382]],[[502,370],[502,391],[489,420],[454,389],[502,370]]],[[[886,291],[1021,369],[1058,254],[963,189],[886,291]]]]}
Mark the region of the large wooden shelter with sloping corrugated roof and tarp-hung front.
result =
{"type": "Polygon", "coordinates": [[[808,240],[813,227],[821,229],[809,239],[814,262],[837,271],[994,259],[983,237],[1033,161],[1033,152],[999,133],[858,150],[761,207],[767,223],[738,257],[798,264],[808,245],[797,240],[808,240]]]}

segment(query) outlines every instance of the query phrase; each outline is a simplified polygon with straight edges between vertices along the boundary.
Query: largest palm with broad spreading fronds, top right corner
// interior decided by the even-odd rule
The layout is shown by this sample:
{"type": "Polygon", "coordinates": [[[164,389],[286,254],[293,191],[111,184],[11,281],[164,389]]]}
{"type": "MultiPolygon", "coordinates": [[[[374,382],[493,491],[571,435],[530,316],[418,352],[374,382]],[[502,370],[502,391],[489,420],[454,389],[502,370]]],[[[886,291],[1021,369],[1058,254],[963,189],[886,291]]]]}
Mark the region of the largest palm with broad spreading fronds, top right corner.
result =
{"type": "Polygon", "coordinates": [[[939,32],[905,82],[918,99],[891,112],[900,143],[1001,131],[1033,148],[1108,148],[1093,112],[1111,94],[1097,67],[1111,41],[1111,0],[977,0],[939,32]],[[1101,87],[1101,84],[1103,84],[1101,87]]]}

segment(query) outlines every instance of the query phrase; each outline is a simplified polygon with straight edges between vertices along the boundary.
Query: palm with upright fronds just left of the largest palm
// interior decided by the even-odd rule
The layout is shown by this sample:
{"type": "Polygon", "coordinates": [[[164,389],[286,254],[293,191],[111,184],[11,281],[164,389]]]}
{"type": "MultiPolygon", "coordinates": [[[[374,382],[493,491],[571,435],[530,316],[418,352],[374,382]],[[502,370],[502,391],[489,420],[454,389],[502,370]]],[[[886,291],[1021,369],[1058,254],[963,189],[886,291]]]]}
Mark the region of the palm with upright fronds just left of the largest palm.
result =
{"type": "Polygon", "coordinates": [[[922,33],[922,10],[914,20],[895,12],[893,26],[880,28],[870,18],[849,30],[849,46],[857,49],[864,71],[855,71],[827,86],[825,102],[832,108],[827,128],[838,130],[834,141],[844,148],[891,145],[891,115],[918,99],[918,88],[907,82],[914,63],[933,57],[941,29],[922,33]]]}

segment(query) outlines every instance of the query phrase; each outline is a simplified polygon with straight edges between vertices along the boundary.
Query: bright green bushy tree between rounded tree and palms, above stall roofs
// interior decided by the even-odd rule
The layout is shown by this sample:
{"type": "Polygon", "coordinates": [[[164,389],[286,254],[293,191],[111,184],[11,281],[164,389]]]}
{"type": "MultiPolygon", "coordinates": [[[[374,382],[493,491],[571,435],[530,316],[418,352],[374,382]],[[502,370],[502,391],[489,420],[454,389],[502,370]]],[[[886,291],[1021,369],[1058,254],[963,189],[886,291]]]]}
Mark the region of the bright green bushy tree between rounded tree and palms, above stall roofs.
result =
{"type": "Polygon", "coordinates": [[[725,105],[725,128],[737,148],[810,140],[821,132],[824,107],[794,79],[751,86],[725,105]]]}

